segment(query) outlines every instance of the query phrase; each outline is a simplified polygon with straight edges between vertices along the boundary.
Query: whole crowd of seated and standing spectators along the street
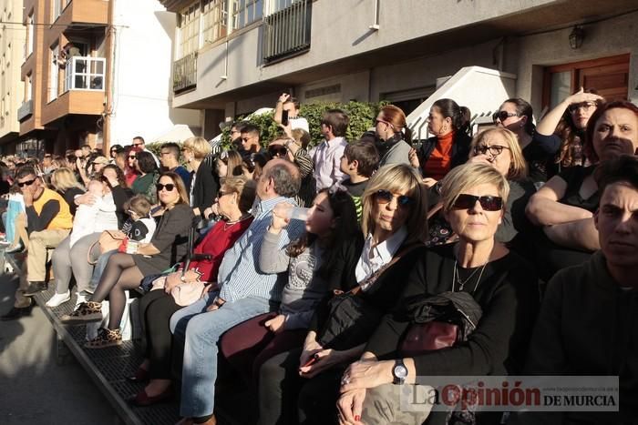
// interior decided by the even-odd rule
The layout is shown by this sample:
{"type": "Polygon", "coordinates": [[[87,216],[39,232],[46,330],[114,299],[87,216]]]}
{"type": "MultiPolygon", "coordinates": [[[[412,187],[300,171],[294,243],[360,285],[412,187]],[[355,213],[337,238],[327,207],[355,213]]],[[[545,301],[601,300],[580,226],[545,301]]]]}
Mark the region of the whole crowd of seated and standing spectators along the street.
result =
{"type": "Polygon", "coordinates": [[[192,137],[158,158],[134,137],[108,156],[5,157],[5,252],[27,272],[2,319],[50,285],[46,308],[70,302],[74,277],[61,320],[102,322],[85,344],[102,349],[142,294],[144,360],[127,378],[146,387],[129,402],[179,396],[180,425],[216,423],[225,376],[255,402],[238,417],[263,425],[635,423],[638,106],[581,90],[536,125],[520,98],[478,134],[469,117],[438,99],[432,137],[413,140],[389,105],[346,140],[350,117],[330,109],[310,147],[283,94],[281,136],[236,122],[215,154],[192,137]],[[472,326],[434,315],[441,303],[472,326]],[[424,323],[464,331],[432,348],[424,323]],[[427,377],[489,375],[618,376],[619,409],[402,408],[427,377]]]}

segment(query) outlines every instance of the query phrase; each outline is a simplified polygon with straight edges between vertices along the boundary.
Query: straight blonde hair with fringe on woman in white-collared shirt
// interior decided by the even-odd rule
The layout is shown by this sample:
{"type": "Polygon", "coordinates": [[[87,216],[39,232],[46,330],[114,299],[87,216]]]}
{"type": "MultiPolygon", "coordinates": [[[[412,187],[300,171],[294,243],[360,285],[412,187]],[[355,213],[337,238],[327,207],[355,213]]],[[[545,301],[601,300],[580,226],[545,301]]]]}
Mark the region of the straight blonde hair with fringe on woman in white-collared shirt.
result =
{"type": "Polygon", "coordinates": [[[362,197],[363,215],[361,229],[364,235],[375,231],[374,210],[376,204],[376,192],[389,190],[390,192],[403,192],[415,202],[410,208],[406,221],[406,242],[424,242],[427,240],[427,188],[423,185],[421,177],[413,167],[406,164],[395,164],[381,167],[370,178],[362,197]]]}

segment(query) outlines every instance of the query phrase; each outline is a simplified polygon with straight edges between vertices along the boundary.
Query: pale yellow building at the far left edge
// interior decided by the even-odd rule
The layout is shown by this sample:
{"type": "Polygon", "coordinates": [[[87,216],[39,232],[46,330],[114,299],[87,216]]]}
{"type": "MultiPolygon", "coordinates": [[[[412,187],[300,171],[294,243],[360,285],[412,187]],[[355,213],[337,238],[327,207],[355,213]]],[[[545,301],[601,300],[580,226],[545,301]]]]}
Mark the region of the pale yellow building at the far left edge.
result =
{"type": "MultiPolygon", "coordinates": [[[[24,84],[20,65],[24,61],[26,32],[22,25],[22,0],[0,0],[0,146],[15,147],[20,126],[17,109],[22,105],[24,84]]],[[[9,151],[7,153],[13,153],[9,151]]]]}

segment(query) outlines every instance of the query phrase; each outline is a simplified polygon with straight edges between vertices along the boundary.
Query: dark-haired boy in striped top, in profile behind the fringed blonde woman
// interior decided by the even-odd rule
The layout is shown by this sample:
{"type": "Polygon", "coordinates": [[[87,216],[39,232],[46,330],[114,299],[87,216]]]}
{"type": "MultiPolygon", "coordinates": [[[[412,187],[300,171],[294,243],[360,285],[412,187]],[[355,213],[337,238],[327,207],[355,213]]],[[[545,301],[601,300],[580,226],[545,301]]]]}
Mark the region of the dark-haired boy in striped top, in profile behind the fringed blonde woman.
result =
{"type": "Polygon", "coordinates": [[[347,177],[341,184],[355,201],[356,218],[359,221],[363,211],[361,197],[364,195],[368,180],[378,166],[379,154],[373,142],[360,140],[345,147],[344,156],[341,157],[341,171],[347,177]]]}

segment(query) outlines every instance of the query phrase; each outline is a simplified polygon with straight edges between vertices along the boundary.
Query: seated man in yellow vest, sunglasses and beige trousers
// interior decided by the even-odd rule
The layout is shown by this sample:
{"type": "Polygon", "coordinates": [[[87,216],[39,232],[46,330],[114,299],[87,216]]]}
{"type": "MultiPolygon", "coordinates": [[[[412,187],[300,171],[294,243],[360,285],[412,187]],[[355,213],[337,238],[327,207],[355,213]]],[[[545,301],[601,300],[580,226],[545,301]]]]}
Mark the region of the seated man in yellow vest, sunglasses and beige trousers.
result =
{"type": "MultiPolygon", "coordinates": [[[[31,296],[46,290],[46,248],[56,248],[73,227],[67,202],[44,186],[33,167],[22,167],[15,177],[26,207],[28,256],[26,279],[20,279],[15,304],[3,320],[19,319],[30,312],[31,296]]],[[[26,241],[25,241],[26,242],[26,241]]]]}

